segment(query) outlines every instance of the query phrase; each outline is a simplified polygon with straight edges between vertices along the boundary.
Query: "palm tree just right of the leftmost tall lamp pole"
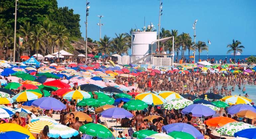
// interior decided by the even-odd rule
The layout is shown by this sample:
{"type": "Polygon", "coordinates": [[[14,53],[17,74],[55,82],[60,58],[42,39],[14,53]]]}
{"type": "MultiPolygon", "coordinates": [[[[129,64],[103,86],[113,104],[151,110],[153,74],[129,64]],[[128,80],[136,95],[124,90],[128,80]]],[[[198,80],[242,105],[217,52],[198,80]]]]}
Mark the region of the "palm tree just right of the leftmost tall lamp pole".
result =
{"type": "Polygon", "coordinates": [[[21,34],[21,37],[24,38],[23,44],[28,52],[28,55],[30,55],[30,50],[32,46],[30,36],[32,35],[34,29],[33,26],[34,25],[30,25],[30,22],[24,22],[23,26],[20,25],[20,29],[18,30],[18,32],[21,34]]]}

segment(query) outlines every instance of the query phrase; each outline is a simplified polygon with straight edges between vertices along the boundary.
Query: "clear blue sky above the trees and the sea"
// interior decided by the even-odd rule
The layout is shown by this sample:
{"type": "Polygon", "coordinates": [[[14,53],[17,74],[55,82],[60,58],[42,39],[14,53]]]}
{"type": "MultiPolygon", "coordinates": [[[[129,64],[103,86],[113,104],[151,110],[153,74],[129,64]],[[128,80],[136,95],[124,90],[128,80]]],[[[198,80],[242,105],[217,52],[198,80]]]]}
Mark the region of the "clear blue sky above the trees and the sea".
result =
{"type": "MultiPolygon", "coordinates": [[[[85,38],[85,0],[57,0],[59,7],[67,6],[80,14],[82,36],[85,38]]],[[[99,18],[101,36],[115,37],[115,33],[128,32],[130,28],[141,29],[152,22],[158,29],[159,0],[88,0],[88,37],[99,40],[99,18]]],[[[226,55],[227,44],[232,39],[245,46],[242,55],[255,55],[256,45],[256,0],[162,0],[161,28],[177,29],[178,33],[189,33],[193,38],[193,23],[198,40],[212,44],[209,55],[226,55]]],[[[194,40],[194,39],[193,39],[194,40]]],[[[188,51],[186,52],[186,54],[188,51]]],[[[202,55],[206,55],[203,52],[202,55]]]]}

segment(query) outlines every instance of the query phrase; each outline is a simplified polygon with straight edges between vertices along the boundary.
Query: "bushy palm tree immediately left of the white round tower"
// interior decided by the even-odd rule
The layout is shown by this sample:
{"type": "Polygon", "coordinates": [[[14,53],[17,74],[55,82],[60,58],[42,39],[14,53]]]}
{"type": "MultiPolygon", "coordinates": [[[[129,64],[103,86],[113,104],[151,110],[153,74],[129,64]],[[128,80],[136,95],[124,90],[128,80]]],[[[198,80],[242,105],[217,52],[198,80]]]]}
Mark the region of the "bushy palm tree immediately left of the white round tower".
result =
{"type": "Polygon", "coordinates": [[[116,38],[114,38],[113,40],[113,50],[114,52],[116,52],[119,55],[122,55],[123,53],[126,53],[128,55],[128,42],[124,37],[124,33],[121,33],[119,35],[117,35],[116,33],[116,38]]]}

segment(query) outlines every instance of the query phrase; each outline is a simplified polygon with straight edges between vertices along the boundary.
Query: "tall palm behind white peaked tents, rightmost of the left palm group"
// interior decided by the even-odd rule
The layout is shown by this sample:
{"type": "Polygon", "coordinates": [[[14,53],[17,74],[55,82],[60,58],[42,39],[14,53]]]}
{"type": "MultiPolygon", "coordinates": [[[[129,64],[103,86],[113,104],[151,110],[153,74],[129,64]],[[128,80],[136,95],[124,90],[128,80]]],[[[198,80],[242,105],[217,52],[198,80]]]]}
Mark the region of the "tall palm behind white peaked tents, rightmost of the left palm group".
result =
{"type": "Polygon", "coordinates": [[[63,48],[65,45],[65,41],[68,40],[69,33],[68,30],[64,26],[57,26],[54,31],[52,37],[55,39],[55,44],[58,47],[58,58],[59,58],[59,47],[63,48]]]}

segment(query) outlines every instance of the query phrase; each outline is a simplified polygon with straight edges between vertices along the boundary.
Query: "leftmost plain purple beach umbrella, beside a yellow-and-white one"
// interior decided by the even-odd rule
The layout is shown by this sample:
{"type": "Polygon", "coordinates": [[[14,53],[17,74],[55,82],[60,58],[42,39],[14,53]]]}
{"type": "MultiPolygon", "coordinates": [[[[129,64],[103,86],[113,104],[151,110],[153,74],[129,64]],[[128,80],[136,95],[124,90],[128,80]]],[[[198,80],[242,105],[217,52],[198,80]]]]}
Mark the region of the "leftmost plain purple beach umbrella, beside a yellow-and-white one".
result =
{"type": "Polygon", "coordinates": [[[32,105],[45,110],[52,109],[54,111],[61,111],[63,109],[66,109],[66,105],[61,103],[59,100],[51,97],[42,97],[40,99],[37,99],[32,103],[32,105]]]}

